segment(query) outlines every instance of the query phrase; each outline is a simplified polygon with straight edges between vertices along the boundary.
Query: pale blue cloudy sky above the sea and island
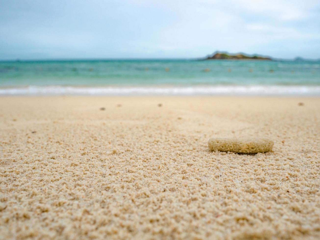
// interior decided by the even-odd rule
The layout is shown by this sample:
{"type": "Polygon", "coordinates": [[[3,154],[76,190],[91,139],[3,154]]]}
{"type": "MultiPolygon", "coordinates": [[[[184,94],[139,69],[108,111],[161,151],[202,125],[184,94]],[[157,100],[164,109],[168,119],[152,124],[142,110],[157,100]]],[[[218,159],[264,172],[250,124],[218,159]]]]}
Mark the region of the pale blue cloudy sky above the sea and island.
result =
{"type": "Polygon", "coordinates": [[[0,0],[0,59],[320,58],[320,0],[0,0]]]}

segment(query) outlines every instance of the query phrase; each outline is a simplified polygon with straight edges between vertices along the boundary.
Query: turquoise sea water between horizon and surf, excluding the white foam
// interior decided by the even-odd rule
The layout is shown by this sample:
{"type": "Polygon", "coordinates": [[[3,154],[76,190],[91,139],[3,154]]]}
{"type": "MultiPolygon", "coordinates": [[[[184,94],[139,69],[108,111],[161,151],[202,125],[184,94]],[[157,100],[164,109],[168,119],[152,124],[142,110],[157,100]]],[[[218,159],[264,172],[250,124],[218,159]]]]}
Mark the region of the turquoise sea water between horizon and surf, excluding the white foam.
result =
{"type": "MultiPolygon", "coordinates": [[[[0,62],[0,88],[320,86],[320,61],[70,60],[0,62]]],[[[0,90],[1,90],[0,89],[0,90]]],[[[289,88],[290,89],[290,88],[289,88]]],[[[58,91],[59,92],[59,91],[58,91]]]]}

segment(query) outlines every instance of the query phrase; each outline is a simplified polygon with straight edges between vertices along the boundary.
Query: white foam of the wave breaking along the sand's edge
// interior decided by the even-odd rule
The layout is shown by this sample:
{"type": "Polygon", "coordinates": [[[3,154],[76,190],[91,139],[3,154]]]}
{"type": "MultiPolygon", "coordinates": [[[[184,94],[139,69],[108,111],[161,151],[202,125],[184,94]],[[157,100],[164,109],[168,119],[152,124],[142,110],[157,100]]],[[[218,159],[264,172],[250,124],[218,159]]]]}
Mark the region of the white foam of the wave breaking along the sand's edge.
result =
{"type": "Polygon", "coordinates": [[[320,96],[320,86],[190,86],[2,88],[0,95],[308,95],[320,96]]]}

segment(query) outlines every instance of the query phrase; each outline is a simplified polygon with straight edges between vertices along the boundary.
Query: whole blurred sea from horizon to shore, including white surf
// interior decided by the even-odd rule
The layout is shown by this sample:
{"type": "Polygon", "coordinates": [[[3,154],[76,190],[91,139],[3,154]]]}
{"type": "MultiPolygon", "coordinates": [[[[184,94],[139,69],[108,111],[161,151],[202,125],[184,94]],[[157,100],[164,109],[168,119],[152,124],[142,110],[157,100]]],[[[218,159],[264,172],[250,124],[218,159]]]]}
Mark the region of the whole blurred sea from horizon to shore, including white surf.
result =
{"type": "Polygon", "coordinates": [[[320,96],[320,61],[0,61],[0,95],[320,96]]]}

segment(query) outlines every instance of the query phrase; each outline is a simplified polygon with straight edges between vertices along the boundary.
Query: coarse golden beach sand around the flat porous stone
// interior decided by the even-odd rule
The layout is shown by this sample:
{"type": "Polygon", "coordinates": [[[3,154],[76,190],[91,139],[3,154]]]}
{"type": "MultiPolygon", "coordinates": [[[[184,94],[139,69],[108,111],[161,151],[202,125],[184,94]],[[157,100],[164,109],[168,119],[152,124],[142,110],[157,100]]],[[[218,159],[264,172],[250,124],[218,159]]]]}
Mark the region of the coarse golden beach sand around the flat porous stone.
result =
{"type": "Polygon", "coordinates": [[[319,98],[0,97],[0,110],[0,239],[320,238],[319,98]],[[209,150],[233,136],[275,144],[209,150]]]}

